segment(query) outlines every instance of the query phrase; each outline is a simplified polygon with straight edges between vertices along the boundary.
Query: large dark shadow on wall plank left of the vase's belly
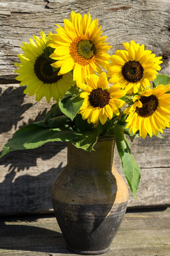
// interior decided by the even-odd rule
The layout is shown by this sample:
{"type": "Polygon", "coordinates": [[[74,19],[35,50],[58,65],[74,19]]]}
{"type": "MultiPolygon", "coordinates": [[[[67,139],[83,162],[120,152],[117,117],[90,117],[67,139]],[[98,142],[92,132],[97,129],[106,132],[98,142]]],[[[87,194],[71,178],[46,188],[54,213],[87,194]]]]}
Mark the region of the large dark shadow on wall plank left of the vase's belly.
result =
{"type": "MultiPolygon", "coordinates": [[[[55,153],[57,154],[57,152],[55,153]]],[[[18,154],[22,157],[24,153],[18,154]]],[[[28,157],[28,154],[26,154],[26,156],[28,157]]],[[[32,159],[31,164],[36,165],[36,155],[34,161],[32,161],[32,159]]],[[[0,183],[0,201],[3,205],[3,208],[0,210],[0,215],[24,212],[45,213],[49,211],[49,209],[52,209],[52,183],[55,181],[54,177],[57,177],[62,171],[62,163],[60,163],[57,168],[42,171],[42,173],[37,176],[35,176],[33,172],[32,176],[30,175],[31,172],[29,174],[25,172],[23,175],[18,175],[16,169],[18,169],[18,171],[26,167],[29,169],[31,165],[29,161],[26,161],[24,165],[24,161],[22,161],[23,164],[21,164],[19,160],[16,160],[16,157],[13,157],[13,163],[17,165],[11,164],[10,159],[8,159],[8,164],[10,164],[9,171],[4,181],[0,183]]]]}

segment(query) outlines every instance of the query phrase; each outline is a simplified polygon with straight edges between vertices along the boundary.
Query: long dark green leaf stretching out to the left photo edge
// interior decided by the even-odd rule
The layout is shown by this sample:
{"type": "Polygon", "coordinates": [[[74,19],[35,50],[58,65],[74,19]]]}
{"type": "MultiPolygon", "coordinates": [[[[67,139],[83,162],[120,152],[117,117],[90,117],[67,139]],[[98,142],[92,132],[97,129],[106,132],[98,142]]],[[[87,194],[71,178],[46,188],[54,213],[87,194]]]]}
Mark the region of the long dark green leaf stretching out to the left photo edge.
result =
{"type": "Polygon", "coordinates": [[[70,130],[60,131],[57,129],[48,129],[36,124],[28,124],[19,129],[10,141],[4,146],[1,156],[8,152],[23,149],[35,149],[47,142],[69,142],[81,136],[79,132],[70,130]]]}

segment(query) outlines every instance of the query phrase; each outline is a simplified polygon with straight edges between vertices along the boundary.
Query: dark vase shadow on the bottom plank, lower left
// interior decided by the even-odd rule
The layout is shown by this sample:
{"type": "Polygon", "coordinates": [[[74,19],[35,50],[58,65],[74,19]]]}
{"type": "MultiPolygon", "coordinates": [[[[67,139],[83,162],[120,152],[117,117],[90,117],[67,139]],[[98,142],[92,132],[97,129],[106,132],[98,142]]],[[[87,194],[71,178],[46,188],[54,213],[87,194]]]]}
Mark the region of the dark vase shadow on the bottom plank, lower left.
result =
{"type": "Polygon", "coordinates": [[[30,252],[52,252],[55,250],[57,252],[61,247],[62,250],[65,247],[64,252],[67,253],[62,233],[48,229],[47,226],[46,228],[36,227],[32,224],[32,221],[36,222],[36,218],[31,218],[30,225],[27,225],[27,223],[25,225],[0,223],[0,250],[24,250],[30,252]]]}

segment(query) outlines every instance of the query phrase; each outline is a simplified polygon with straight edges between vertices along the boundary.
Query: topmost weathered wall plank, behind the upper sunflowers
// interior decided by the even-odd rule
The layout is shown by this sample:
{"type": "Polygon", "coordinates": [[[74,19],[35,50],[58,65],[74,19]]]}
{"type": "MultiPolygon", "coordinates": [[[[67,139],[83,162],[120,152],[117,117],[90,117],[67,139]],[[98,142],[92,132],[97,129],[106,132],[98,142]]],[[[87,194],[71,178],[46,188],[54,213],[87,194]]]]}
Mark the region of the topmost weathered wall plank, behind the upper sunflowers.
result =
{"type": "Polygon", "coordinates": [[[170,74],[169,57],[169,0],[68,0],[68,1],[14,1],[0,2],[0,82],[16,82],[13,63],[21,53],[22,41],[29,41],[40,31],[55,33],[55,23],[63,25],[70,11],[91,13],[98,18],[104,36],[113,46],[110,53],[123,48],[124,41],[135,40],[164,57],[162,72],[170,74]]]}

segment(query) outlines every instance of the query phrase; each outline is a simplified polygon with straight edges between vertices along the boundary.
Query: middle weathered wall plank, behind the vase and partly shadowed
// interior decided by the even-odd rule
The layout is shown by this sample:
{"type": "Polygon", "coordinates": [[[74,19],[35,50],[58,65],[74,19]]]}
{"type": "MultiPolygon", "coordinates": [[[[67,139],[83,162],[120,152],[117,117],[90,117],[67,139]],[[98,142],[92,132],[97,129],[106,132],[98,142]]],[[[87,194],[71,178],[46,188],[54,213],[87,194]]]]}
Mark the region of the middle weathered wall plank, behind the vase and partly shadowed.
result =
{"type": "MultiPolygon", "coordinates": [[[[23,95],[23,87],[1,85],[0,150],[18,127],[42,118],[50,105],[23,95]],[[44,111],[45,110],[45,111],[44,111]],[[4,118],[5,117],[5,118],[4,118]]],[[[141,168],[139,201],[130,193],[129,207],[169,205],[170,129],[165,139],[135,139],[132,153],[141,168]]],[[[0,214],[46,213],[52,210],[52,183],[67,164],[66,144],[51,143],[38,149],[11,152],[0,160],[0,214]]],[[[115,166],[123,176],[115,150],[115,166]]]]}

